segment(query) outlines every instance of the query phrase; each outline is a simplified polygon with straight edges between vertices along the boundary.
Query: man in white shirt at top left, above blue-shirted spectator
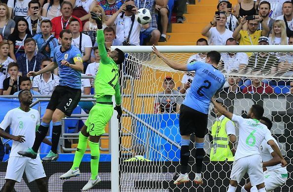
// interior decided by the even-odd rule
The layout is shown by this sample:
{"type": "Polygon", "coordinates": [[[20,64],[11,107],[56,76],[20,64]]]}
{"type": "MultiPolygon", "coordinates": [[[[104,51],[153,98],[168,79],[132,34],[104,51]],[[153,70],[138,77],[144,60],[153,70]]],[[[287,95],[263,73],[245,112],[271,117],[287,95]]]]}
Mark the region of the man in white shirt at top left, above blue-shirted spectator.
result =
{"type": "Polygon", "coordinates": [[[29,13],[29,16],[25,17],[25,19],[28,21],[28,28],[30,29],[32,36],[34,36],[41,32],[40,23],[47,18],[41,16],[40,3],[38,0],[31,0],[29,2],[29,13]]]}

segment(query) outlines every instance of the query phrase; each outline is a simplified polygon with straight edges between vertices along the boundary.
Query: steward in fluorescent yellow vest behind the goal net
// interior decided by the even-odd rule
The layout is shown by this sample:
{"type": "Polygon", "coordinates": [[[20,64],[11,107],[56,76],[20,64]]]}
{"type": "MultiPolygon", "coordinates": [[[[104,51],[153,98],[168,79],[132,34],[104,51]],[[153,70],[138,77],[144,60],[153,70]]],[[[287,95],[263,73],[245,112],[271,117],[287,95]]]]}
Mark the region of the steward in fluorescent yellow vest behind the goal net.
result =
{"type": "MultiPolygon", "coordinates": [[[[218,103],[222,103],[222,100],[217,99],[218,103]]],[[[220,114],[217,109],[214,108],[215,114],[217,116],[216,122],[212,126],[212,136],[213,136],[213,147],[211,149],[210,160],[211,161],[233,161],[234,154],[231,149],[236,142],[235,136],[235,126],[234,123],[220,114]]]]}

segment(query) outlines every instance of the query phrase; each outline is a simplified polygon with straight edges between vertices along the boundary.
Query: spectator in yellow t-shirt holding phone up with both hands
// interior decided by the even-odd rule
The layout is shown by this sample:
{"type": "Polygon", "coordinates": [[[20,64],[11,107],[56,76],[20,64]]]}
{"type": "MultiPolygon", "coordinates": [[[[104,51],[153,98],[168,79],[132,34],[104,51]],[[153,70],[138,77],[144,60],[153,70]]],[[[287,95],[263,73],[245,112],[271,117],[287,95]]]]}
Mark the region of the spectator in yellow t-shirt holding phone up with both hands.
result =
{"type": "Polygon", "coordinates": [[[233,38],[239,41],[239,45],[257,45],[258,38],[267,36],[270,29],[259,15],[244,16],[233,33],[233,38]],[[242,26],[248,23],[248,30],[242,30],[242,26]],[[263,30],[257,30],[261,24],[263,30]]]}

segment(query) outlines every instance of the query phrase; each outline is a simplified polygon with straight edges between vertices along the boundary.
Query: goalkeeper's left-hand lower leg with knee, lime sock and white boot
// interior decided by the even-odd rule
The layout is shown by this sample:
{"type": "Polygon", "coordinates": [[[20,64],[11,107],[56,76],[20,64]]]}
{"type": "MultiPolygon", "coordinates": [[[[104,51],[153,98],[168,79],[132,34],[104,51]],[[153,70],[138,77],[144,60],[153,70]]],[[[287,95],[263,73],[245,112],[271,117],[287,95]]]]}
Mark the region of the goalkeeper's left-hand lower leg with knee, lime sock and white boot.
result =
{"type": "Polygon", "coordinates": [[[87,126],[83,125],[79,133],[77,149],[75,151],[73,159],[73,165],[69,171],[59,177],[60,179],[70,179],[71,177],[77,177],[80,175],[79,165],[82,160],[83,154],[85,153],[87,147],[87,139],[89,137],[89,133],[86,132],[86,130],[87,126]]]}

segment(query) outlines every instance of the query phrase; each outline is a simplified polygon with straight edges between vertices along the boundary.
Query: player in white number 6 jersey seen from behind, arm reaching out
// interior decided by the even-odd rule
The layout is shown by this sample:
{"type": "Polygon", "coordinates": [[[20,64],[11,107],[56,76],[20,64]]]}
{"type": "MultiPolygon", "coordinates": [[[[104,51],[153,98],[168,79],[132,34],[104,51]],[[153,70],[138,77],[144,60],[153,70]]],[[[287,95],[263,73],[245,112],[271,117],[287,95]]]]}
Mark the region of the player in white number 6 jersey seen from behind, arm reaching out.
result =
{"type": "Polygon", "coordinates": [[[251,185],[256,186],[258,192],[265,192],[262,162],[258,150],[262,140],[265,139],[267,144],[281,158],[282,167],[286,166],[287,162],[282,156],[278,145],[274,142],[271,132],[259,121],[264,112],[263,107],[253,105],[247,114],[247,118],[243,118],[242,116],[233,115],[228,112],[214,98],[212,102],[222,115],[237,122],[239,127],[238,147],[235,153],[235,160],[230,175],[230,185],[227,192],[236,192],[237,185],[245,173],[248,173],[251,185]]]}

